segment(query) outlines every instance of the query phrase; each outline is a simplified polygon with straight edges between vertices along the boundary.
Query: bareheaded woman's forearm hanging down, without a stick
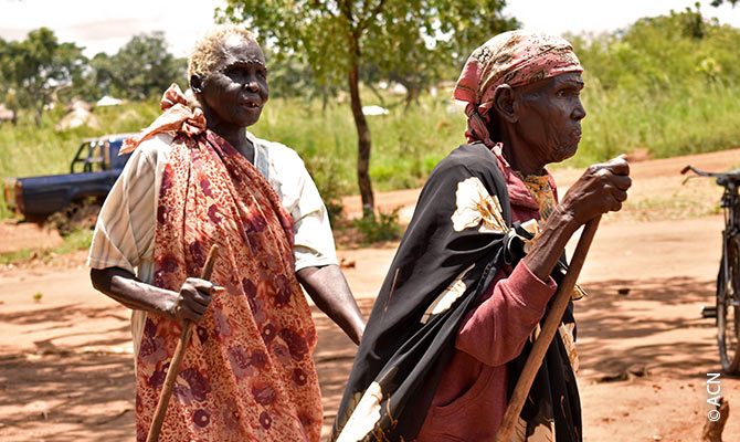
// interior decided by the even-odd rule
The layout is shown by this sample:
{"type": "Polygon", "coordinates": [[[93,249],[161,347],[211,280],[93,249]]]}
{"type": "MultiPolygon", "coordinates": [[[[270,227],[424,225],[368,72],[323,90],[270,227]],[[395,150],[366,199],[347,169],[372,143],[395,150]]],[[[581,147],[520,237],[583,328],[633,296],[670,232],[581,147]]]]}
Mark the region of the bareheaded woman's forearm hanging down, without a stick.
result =
{"type": "Polygon", "coordinates": [[[359,344],[364,319],[339,266],[306,267],[296,272],[296,276],[316,306],[337,323],[355,344],[359,344]]]}

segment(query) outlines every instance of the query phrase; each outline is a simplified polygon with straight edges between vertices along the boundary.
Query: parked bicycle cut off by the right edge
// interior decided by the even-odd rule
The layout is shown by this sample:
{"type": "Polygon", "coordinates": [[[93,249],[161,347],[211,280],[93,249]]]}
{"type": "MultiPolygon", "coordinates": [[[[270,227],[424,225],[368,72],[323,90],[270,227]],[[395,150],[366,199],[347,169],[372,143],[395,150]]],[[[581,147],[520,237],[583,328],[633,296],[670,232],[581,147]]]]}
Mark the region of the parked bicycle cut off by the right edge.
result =
{"type": "Polygon", "coordinates": [[[725,230],[722,259],[717,275],[717,304],[713,308],[705,307],[701,315],[717,319],[717,343],[722,370],[729,375],[740,373],[740,170],[713,173],[689,165],[681,173],[689,170],[699,177],[713,177],[717,185],[725,188],[720,204],[725,213],[725,230]]]}

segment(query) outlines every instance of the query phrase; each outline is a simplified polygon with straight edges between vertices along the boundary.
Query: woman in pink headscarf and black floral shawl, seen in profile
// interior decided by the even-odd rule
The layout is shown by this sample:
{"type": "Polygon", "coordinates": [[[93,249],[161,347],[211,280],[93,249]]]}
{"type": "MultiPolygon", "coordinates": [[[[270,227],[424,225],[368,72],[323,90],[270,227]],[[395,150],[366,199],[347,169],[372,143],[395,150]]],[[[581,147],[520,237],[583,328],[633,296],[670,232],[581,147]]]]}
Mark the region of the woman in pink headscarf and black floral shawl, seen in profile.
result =
{"type": "MultiPolygon", "coordinates": [[[[430,175],[380,291],[334,427],[338,441],[489,441],[565,264],[565,243],[616,211],[623,157],[558,202],[546,166],[575,154],[582,67],[550,35],[499,34],[454,91],[466,138],[430,175]]],[[[574,296],[580,294],[574,291],[574,296]]],[[[580,441],[572,305],[516,427],[518,441],[580,441]]]]}

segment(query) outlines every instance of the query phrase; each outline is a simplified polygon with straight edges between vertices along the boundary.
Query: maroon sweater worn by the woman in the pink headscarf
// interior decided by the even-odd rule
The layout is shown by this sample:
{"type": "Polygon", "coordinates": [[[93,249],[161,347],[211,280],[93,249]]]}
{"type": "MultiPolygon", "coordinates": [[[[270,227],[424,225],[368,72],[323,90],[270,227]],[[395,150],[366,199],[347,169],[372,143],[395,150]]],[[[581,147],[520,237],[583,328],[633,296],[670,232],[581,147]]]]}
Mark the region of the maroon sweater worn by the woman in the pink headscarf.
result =
{"type": "MultiPolygon", "coordinates": [[[[494,149],[509,191],[511,221],[540,219],[539,206],[499,149],[494,149]]],[[[557,199],[552,176],[550,186],[557,199]]],[[[503,266],[480,303],[463,320],[455,355],[445,369],[419,434],[426,441],[493,440],[507,406],[506,362],[524,348],[554,294],[520,262],[503,266]]]]}

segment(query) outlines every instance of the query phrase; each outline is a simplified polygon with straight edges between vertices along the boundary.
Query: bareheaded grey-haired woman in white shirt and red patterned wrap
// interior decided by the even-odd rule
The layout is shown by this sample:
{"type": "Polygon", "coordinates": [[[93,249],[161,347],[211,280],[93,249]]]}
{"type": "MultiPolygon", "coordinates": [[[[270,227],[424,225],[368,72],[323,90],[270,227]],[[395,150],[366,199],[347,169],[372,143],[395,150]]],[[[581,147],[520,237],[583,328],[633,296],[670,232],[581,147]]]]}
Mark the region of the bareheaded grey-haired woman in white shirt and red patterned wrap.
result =
{"type": "Polygon", "coordinates": [[[134,309],[137,441],[183,320],[197,333],[161,441],[318,441],[316,328],[299,282],[356,343],[363,327],[326,209],[295,151],[245,130],[268,97],[265,57],[249,31],[209,32],[189,76],[200,108],[173,85],[165,113],[126,141],[133,154],[88,260],[95,287],[134,309]],[[212,244],[209,282],[197,276],[212,244]]]}

